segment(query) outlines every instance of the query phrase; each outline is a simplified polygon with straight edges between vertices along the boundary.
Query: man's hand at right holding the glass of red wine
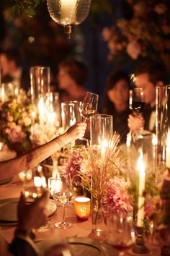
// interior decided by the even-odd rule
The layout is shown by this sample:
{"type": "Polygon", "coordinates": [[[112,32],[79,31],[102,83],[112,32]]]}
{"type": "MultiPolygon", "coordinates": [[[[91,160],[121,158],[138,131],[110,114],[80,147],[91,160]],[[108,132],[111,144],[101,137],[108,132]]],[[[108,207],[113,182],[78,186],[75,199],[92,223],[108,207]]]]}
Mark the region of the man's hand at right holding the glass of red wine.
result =
{"type": "Polygon", "coordinates": [[[128,117],[128,127],[133,132],[138,132],[141,128],[143,128],[145,124],[145,120],[143,116],[137,116],[134,114],[129,115],[128,117]]]}

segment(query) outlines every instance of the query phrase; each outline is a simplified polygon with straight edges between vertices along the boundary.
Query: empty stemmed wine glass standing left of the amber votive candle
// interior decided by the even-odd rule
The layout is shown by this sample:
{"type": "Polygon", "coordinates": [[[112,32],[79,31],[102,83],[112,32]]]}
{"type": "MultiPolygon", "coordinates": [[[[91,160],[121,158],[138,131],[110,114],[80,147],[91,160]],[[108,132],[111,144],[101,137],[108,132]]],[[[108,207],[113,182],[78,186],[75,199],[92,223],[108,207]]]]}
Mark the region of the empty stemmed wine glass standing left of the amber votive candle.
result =
{"type": "Polygon", "coordinates": [[[63,205],[63,221],[55,223],[55,227],[58,229],[68,229],[73,226],[73,223],[68,223],[65,217],[66,204],[71,201],[73,193],[71,191],[71,184],[69,182],[63,181],[63,186],[58,188],[58,192],[53,194],[53,199],[63,205]]]}

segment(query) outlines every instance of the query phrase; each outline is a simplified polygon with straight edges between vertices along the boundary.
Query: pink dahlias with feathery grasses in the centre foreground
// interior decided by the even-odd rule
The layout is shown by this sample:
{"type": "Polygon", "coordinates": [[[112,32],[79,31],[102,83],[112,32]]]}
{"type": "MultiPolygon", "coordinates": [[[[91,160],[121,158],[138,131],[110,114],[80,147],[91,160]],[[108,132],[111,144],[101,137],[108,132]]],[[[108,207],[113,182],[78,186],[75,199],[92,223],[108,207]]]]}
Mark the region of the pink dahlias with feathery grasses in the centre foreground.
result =
{"type": "Polygon", "coordinates": [[[81,184],[98,202],[128,214],[133,210],[128,195],[130,184],[126,181],[125,158],[118,141],[114,135],[104,155],[98,147],[75,148],[61,175],[76,180],[76,185],[81,184]]]}

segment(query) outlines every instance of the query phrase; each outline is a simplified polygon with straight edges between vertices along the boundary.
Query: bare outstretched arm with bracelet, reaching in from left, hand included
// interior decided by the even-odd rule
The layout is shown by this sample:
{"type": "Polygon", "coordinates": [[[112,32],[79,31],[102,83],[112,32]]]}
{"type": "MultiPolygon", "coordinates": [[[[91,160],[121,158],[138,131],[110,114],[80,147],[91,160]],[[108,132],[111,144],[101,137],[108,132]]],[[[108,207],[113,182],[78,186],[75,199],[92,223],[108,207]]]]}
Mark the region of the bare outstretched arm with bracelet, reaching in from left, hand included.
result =
{"type": "Polygon", "coordinates": [[[69,142],[84,137],[86,130],[86,123],[77,123],[70,127],[63,135],[55,137],[50,142],[40,145],[17,158],[0,162],[0,180],[8,179],[9,177],[18,174],[21,171],[27,171],[34,168],[38,163],[42,162],[50,155],[60,150],[64,145],[69,142]]]}

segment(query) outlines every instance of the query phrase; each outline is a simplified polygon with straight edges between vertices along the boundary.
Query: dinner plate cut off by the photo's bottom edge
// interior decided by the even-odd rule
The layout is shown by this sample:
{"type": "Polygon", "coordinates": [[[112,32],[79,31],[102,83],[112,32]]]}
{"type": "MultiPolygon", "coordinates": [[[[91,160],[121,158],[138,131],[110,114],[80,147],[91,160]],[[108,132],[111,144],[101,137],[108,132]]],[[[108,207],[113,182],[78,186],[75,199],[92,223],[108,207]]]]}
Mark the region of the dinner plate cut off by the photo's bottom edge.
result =
{"type": "MultiPolygon", "coordinates": [[[[69,237],[67,239],[69,248],[73,255],[82,256],[118,256],[119,252],[113,248],[110,244],[100,242],[98,240],[85,238],[85,237],[69,237]]],[[[57,252],[58,248],[64,247],[64,244],[57,244],[55,240],[37,242],[37,247],[40,249],[42,255],[48,252],[50,247],[53,247],[57,252]]],[[[54,254],[55,255],[55,254],[54,254]]]]}

